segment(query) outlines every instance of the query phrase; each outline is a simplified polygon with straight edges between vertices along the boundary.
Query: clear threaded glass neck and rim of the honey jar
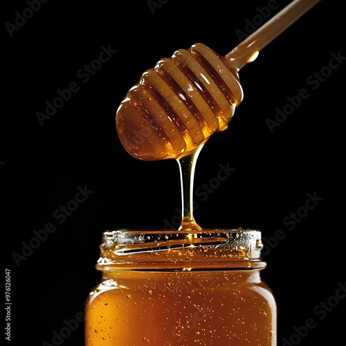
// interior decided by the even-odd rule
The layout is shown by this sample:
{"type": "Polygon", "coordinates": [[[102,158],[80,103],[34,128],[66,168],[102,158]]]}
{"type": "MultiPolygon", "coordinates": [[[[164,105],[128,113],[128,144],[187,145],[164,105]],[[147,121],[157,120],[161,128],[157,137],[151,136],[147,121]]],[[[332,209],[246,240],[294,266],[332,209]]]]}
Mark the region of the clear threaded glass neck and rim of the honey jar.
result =
{"type": "Polygon", "coordinates": [[[111,230],[103,233],[100,271],[224,271],[262,269],[259,230],[111,230]]]}

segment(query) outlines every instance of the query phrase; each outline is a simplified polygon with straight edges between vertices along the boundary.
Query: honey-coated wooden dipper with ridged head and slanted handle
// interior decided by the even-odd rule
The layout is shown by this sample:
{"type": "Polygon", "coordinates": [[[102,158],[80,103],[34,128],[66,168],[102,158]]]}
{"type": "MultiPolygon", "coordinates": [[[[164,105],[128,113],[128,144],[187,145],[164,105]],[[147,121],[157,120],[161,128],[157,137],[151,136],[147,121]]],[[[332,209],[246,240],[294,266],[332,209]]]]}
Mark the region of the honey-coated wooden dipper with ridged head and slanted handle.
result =
{"type": "Polygon", "coordinates": [[[224,57],[194,44],[145,71],[116,112],[127,152],[145,161],[179,159],[226,129],[243,99],[239,70],[319,1],[292,1],[224,57]]]}

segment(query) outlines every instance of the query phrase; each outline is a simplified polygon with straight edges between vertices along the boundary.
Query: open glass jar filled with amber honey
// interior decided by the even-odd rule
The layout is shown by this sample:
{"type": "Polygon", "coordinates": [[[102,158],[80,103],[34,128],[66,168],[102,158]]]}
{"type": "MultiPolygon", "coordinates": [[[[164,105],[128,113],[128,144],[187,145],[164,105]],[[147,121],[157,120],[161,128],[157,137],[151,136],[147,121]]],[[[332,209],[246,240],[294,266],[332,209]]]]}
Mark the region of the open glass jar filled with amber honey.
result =
{"type": "Polygon", "coordinates": [[[276,345],[258,230],[103,233],[85,345],[276,345]]]}

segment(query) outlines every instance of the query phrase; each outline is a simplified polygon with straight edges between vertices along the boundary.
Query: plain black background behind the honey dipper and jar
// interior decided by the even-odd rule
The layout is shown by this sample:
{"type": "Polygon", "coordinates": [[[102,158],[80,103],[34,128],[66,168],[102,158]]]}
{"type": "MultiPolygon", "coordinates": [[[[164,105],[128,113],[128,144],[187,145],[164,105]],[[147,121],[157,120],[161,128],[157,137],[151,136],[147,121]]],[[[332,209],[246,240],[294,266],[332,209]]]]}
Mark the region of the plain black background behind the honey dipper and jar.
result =
{"type": "MultiPolygon", "coordinates": [[[[94,265],[102,230],[176,223],[176,162],[137,161],[116,135],[114,116],[127,90],[178,48],[202,42],[226,55],[239,43],[236,30],[259,18],[257,6],[268,6],[267,0],[156,3],[50,0],[31,17],[26,12],[30,18],[10,35],[6,23],[15,24],[28,3],[1,1],[0,227],[11,276],[12,345],[57,345],[54,332],[80,316],[100,280],[94,265]],[[78,71],[102,46],[116,53],[84,82],[78,71]],[[37,111],[44,113],[45,102],[71,82],[80,89],[41,126],[37,111]],[[53,213],[85,185],[89,198],[60,224],[53,213]],[[55,232],[33,243],[33,231],[49,222],[55,232]],[[16,263],[30,242],[36,248],[16,263]]],[[[277,0],[279,8],[287,3],[277,0]]],[[[262,277],[277,299],[278,345],[282,338],[292,345],[345,342],[345,300],[332,298],[346,276],[345,60],[315,90],[308,82],[315,72],[327,73],[331,53],[346,56],[345,42],[345,1],[321,1],[240,71],[244,101],[197,163],[196,188],[215,178],[219,165],[235,169],[208,198],[196,197],[194,216],[206,228],[262,230],[268,263],[262,277]],[[309,97],[271,133],[266,120],[303,88],[309,97]],[[304,213],[308,194],[320,198],[318,206],[289,229],[283,219],[299,208],[304,213]],[[285,238],[269,248],[279,229],[285,238]],[[309,318],[316,327],[292,338],[309,318]]],[[[62,345],[83,345],[83,328],[80,322],[62,345]]]]}

